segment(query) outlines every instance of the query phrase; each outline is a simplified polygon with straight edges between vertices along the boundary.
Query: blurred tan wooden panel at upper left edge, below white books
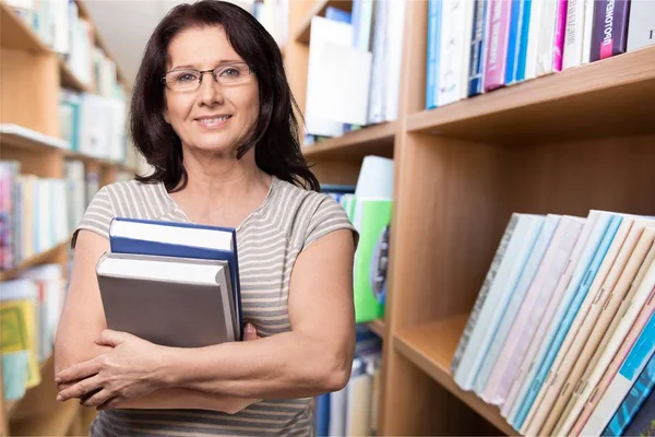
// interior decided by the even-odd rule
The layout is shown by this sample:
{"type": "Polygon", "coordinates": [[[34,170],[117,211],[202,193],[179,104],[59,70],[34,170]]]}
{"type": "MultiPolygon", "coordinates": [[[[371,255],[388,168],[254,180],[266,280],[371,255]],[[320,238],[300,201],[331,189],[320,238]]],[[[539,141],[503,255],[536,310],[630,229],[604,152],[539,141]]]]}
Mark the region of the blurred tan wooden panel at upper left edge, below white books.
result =
{"type": "Polygon", "coordinates": [[[57,57],[2,49],[0,58],[0,122],[59,138],[57,57]]]}

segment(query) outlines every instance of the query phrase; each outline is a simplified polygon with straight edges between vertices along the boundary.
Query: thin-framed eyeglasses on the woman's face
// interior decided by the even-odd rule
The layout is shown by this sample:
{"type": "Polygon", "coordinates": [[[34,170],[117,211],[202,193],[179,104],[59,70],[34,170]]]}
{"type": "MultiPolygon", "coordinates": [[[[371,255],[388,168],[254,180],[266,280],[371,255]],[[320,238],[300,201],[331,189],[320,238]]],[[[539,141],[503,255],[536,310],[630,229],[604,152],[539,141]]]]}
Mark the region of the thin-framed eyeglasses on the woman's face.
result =
{"type": "Polygon", "coordinates": [[[247,62],[235,62],[204,71],[192,69],[172,70],[162,78],[162,83],[171,90],[196,90],[202,83],[204,73],[212,73],[216,83],[222,86],[229,86],[246,82],[253,72],[253,68],[247,62]]]}

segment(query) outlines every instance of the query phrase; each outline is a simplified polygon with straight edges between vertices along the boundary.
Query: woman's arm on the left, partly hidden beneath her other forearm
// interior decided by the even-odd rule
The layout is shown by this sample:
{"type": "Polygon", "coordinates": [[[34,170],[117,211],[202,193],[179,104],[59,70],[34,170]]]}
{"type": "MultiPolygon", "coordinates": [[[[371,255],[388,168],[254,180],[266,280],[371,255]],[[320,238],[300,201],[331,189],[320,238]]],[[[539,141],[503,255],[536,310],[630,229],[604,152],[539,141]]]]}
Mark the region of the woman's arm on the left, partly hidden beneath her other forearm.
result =
{"type": "MultiPolygon", "coordinates": [[[[88,231],[80,231],[74,250],[69,293],[59,322],[55,371],[59,371],[100,356],[112,350],[97,344],[107,328],[103,302],[95,274],[95,265],[109,241],[88,231]]],[[[70,383],[67,383],[70,386],[70,383]]],[[[64,386],[60,386],[62,389],[64,386]]],[[[255,400],[228,398],[200,390],[162,389],[148,397],[130,400],[119,408],[132,409],[202,409],[234,413],[255,400]]]]}

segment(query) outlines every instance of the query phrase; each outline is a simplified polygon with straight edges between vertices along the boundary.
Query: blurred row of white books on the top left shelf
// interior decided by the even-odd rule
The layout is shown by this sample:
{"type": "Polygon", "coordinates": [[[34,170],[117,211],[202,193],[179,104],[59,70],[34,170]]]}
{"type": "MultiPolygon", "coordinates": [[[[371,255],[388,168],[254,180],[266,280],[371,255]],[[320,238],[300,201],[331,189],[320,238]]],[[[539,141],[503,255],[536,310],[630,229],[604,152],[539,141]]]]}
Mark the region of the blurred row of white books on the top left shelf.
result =
{"type": "Polygon", "coordinates": [[[122,91],[116,63],[95,45],[93,25],[79,15],[73,0],[5,0],[71,72],[99,95],[117,97],[122,91]]]}

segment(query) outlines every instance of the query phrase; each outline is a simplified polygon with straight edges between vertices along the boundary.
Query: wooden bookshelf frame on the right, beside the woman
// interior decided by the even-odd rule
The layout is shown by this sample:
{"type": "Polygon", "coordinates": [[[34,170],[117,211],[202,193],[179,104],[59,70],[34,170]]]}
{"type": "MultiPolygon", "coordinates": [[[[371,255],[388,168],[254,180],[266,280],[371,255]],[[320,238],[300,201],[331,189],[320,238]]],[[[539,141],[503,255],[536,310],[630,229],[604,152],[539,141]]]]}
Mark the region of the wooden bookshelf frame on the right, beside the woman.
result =
{"type": "MultiPolygon", "coordinates": [[[[655,215],[655,46],[426,110],[428,2],[407,2],[395,121],[302,147],[321,182],[393,157],[379,435],[516,435],[450,364],[512,212],[655,215]]],[[[305,109],[310,22],[291,2],[287,74],[305,109]]]]}

